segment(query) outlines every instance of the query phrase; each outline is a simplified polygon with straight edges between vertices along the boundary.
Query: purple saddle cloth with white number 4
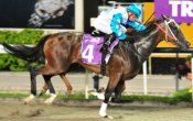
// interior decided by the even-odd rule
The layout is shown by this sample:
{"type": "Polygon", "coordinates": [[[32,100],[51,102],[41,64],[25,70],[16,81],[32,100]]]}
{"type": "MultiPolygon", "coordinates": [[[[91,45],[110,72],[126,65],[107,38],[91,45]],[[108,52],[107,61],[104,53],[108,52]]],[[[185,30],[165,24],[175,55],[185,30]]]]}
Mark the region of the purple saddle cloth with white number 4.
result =
{"type": "MultiPolygon", "coordinates": [[[[82,61],[85,64],[101,64],[101,53],[104,37],[103,36],[92,36],[90,34],[84,34],[82,41],[82,61]]],[[[106,56],[106,64],[110,58],[110,54],[114,47],[119,43],[119,40],[114,41],[110,44],[109,54],[106,56]]]]}

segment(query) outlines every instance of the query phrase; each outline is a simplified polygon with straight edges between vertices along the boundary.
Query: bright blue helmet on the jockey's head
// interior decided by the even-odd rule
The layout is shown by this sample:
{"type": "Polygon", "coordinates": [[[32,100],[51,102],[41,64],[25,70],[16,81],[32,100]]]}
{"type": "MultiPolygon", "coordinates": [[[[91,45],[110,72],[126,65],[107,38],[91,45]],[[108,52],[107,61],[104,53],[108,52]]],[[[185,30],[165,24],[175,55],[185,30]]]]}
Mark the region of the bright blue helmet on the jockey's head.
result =
{"type": "Polygon", "coordinates": [[[132,3],[128,7],[126,7],[127,12],[132,12],[137,18],[139,18],[141,15],[141,9],[139,6],[137,6],[136,3],[132,3]]]}

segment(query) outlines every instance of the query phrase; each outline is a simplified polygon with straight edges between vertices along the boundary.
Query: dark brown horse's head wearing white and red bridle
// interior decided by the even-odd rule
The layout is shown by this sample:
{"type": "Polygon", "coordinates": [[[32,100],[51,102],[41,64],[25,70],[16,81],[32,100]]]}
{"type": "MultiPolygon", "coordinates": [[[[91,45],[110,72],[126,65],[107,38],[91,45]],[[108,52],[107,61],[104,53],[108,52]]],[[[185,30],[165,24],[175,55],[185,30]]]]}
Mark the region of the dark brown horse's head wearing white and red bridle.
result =
{"type": "Polygon", "coordinates": [[[162,15],[162,23],[157,26],[164,34],[164,40],[183,50],[187,48],[191,43],[185,38],[179,24],[171,18],[162,15]]]}

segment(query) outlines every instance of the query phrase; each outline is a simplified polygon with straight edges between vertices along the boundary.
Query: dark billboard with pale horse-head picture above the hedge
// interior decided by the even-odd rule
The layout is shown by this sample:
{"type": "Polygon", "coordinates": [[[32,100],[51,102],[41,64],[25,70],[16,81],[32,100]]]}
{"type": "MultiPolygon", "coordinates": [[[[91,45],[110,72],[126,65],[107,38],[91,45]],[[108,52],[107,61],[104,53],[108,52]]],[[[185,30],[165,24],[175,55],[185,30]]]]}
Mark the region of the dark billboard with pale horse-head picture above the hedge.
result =
{"type": "Polygon", "coordinates": [[[75,0],[0,0],[0,28],[75,29],[75,0]]]}

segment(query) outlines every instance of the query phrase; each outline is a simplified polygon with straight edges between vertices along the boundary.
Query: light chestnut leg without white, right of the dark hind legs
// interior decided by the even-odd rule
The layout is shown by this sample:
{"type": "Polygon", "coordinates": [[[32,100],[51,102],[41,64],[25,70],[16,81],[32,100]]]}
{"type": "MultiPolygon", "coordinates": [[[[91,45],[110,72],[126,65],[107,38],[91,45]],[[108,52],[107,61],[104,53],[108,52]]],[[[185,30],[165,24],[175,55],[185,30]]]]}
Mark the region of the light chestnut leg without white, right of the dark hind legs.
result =
{"type": "Polygon", "coordinates": [[[66,88],[67,88],[66,98],[68,99],[73,88],[72,88],[69,81],[67,80],[65,74],[60,74],[60,76],[63,79],[63,82],[66,85],[66,88]]]}

